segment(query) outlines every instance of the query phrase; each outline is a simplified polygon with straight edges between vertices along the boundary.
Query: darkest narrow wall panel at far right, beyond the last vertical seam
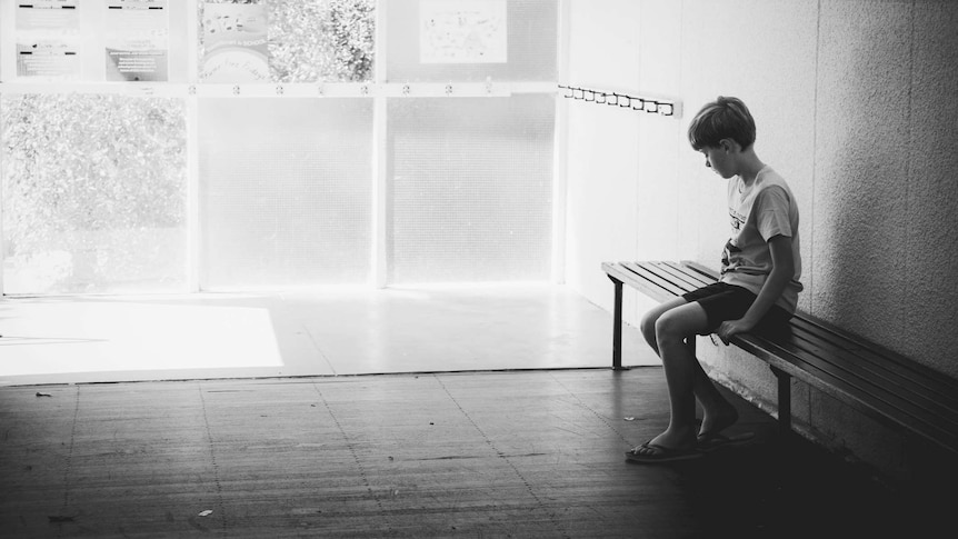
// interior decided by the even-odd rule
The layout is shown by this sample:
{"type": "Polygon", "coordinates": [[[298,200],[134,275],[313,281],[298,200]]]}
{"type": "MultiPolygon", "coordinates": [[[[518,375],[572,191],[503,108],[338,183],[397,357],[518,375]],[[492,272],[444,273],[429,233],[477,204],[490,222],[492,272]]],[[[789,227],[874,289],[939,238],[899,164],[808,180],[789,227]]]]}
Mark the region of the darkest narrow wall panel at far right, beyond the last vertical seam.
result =
{"type": "Polygon", "coordinates": [[[906,285],[896,346],[958,377],[958,2],[914,13],[906,285]]]}

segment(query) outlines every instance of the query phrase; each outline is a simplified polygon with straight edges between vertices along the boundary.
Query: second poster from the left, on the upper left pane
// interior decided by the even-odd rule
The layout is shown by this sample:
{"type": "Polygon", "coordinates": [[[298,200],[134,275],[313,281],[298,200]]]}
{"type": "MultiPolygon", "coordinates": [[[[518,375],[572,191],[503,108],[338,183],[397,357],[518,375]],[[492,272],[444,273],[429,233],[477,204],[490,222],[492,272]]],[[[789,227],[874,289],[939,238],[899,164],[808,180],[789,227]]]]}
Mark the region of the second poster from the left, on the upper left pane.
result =
{"type": "Polygon", "coordinates": [[[167,81],[167,0],[107,0],[103,18],[108,81],[167,81]]]}

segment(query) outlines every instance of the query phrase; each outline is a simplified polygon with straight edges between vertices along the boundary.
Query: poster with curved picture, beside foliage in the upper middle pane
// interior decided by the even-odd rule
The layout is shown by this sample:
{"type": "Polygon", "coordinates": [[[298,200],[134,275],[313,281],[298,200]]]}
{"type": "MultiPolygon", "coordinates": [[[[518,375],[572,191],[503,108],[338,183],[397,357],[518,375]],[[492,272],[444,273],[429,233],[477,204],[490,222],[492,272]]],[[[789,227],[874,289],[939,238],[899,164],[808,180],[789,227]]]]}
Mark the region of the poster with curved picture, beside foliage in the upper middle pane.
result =
{"type": "Polygon", "coordinates": [[[266,6],[204,3],[202,29],[203,82],[269,81],[266,6]]]}

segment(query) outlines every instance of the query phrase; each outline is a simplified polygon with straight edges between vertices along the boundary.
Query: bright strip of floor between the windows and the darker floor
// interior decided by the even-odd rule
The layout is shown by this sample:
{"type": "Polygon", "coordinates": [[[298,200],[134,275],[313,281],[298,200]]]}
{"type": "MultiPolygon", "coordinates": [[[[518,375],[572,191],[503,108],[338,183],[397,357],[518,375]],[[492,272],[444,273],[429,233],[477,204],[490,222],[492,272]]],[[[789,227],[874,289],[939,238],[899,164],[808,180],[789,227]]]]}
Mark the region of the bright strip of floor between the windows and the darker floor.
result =
{"type": "MultiPolygon", "coordinates": [[[[608,367],[611,323],[546,285],[17,298],[0,385],[608,367]]],[[[659,365],[623,339],[625,365],[659,365]]]]}

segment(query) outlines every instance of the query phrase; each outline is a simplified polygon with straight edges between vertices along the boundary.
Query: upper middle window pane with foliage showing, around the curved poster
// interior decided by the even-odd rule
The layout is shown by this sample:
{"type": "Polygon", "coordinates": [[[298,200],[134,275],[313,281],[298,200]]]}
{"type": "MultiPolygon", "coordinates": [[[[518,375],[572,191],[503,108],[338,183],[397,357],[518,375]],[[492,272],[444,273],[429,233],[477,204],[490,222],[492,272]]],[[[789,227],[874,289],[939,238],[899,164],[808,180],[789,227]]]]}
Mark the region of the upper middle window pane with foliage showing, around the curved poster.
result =
{"type": "MultiPolygon", "coordinates": [[[[200,0],[201,40],[207,36],[204,28],[213,23],[204,13],[207,3],[232,3],[239,4],[233,8],[237,10],[265,12],[272,82],[372,79],[376,0],[200,0]]],[[[200,43],[199,54],[200,66],[203,66],[203,43],[200,43]]]]}

